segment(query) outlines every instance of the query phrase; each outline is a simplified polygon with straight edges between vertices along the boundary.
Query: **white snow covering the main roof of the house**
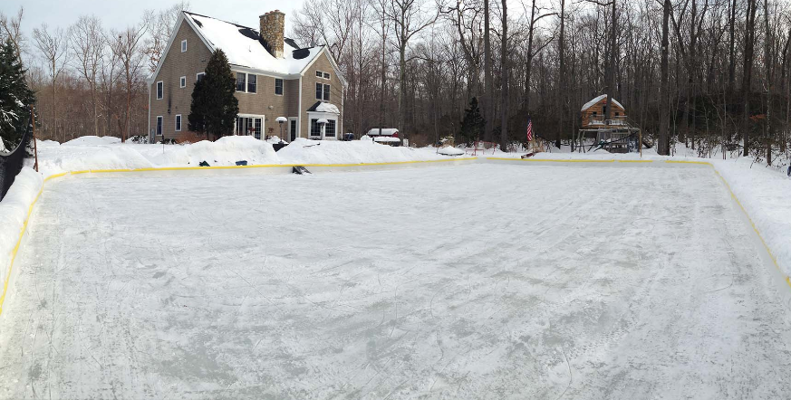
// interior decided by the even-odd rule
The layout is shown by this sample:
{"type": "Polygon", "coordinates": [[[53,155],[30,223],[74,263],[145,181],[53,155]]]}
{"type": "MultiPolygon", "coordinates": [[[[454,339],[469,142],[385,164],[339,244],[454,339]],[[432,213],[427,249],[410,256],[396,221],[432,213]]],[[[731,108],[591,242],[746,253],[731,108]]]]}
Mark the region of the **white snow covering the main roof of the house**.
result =
{"type": "Polygon", "coordinates": [[[232,65],[281,75],[295,75],[302,72],[323,50],[323,46],[297,49],[293,40],[285,39],[284,58],[277,59],[266,50],[256,29],[187,11],[184,14],[192,20],[198,34],[210,46],[226,53],[228,62],[232,65]]]}

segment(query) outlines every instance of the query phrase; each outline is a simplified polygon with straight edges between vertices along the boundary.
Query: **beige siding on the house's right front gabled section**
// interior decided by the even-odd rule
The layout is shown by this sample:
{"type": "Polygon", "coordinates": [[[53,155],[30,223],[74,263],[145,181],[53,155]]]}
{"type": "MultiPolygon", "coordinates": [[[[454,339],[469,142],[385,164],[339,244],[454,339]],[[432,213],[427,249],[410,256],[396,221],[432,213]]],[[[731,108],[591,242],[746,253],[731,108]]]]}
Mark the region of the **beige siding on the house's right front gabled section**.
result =
{"type": "MultiPolygon", "coordinates": [[[[308,129],[310,129],[310,122],[307,119],[307,110],[310,109],[311,106],[316,103],[316,101],[319,101],[316,99],[316,83],[318,82],[330,84],[330,102],[338,106],[338,110],[341,110],[341,113],[343,113],[343,85],[341,80],[338,78],[338,71],[335,71],[333,68],[333,63],[330,62],[329,58],[327,58],[327,54],[322,52],[313,65],[311,65],[310,68],[304,72],[304,76],[302,78],[302,110],[300,110],[300,136],[302,138],[308,137],[308,129]],[[323,78],[317,77],[316,71],[330,72],[330,79],[325,80],[323,78]]],[[[342,138],[342,127],[342,117],[339,117],[337,138],[342,138]]]]}

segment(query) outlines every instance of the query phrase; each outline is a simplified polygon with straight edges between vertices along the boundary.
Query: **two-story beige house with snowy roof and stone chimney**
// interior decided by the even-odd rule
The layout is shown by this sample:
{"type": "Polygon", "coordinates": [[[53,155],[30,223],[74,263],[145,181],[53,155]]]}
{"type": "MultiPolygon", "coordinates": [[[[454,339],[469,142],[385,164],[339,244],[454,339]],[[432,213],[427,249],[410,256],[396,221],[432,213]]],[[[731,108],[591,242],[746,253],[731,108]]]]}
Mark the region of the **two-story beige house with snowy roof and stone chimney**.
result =
{"type": "MultiPolygon", "coordinates": [[[[154,141],[189,135],[195,82],[215,49],[236,75],[239,114],[233,132],[335,140],[343,131],[346,81],[326,46],[299,48],[285,38],[285,14],[259,17],[259,30],[182,12],[149,84],[149,132],[154,141]],[[286,122],[277,122],[283,117],[286,122]]],[[[283,120],[283,119],[281,119],[283,120]]],[[[196,136],[196,138],[203,138],[196,136]]]]}

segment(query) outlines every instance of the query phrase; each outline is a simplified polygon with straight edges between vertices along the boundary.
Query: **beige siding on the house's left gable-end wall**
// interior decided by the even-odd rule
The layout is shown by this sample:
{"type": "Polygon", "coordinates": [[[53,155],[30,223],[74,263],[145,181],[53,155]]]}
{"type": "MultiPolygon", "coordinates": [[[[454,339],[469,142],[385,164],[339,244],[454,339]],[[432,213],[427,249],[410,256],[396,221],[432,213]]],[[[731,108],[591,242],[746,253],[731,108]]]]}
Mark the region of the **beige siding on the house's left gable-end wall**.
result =
{"type": "Polygon", "coordinates": [[[162,116],[162,132],[165,138],[176,138],[176,115],[181,114],[181,133],[187,132],[187,117],[192,102],[192,88],[195,86],[196,75],[206,69],[208,51],[198,34],[192,30],[187,21],[178,27],[176,38],[165,55],[162,68],[150,86],[150,129],[157,128],[157,116],[162,116]],[[181,52],[181,41],[187,40],[187,52],[181,52]],[[179,78],[187,77],[187,87],[179,87],[179,78]],[[157,82],[164,86],[161,100],[157,100],[157,82]],[[168,112],[170,111],[170,112],[168,112]]]}

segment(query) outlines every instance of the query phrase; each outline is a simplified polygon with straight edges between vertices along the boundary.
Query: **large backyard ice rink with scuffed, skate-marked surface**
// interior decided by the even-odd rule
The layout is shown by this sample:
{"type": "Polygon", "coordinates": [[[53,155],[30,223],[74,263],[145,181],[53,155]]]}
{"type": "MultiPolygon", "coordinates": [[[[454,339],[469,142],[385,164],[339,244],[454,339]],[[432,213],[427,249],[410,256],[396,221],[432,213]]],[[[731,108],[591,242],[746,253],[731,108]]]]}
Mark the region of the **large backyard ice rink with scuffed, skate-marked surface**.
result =
{"type": "Polygon", "coordinates": [[[791,318],[738,213],[708,167],[63,178],[0,397],[787,397],[791,318]]]}

